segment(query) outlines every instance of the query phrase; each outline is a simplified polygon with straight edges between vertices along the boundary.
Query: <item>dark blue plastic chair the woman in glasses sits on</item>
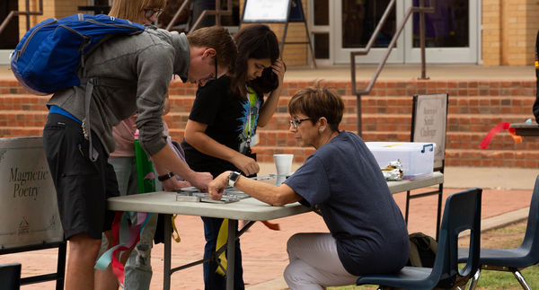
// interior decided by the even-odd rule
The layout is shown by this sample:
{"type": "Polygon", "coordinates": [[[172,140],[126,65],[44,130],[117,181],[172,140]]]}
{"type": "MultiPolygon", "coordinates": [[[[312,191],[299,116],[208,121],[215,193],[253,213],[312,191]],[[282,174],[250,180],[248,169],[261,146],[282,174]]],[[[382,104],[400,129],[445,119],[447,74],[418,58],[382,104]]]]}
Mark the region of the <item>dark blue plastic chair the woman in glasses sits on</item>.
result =
{"type": "MultiPolygon", "coordinates": [[[[402,289],[449,289],[465,286],[479,271],[482,189],[468,189],[446,199],[433,268],[404,267],[399,273],[359,277],[357,285],[402,289]],[[470,230],[466,265],[458,269],[458,234],[470,230]]],[[[472,284],[470,285],[472,286],[472,284]]]]}

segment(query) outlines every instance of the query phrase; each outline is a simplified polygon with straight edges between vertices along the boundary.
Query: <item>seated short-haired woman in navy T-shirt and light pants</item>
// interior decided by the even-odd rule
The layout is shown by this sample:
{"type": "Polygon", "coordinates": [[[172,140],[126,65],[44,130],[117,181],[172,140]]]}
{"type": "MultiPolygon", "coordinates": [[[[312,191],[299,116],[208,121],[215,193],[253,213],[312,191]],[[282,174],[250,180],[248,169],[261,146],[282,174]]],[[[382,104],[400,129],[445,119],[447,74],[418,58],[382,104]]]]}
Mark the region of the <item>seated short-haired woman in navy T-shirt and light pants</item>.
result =
{"type": "Polygon", "coordinates": [[[408,260],[406,224],[382,171],[358,135],[339,131],[344,104],[330,91],[300,90],[288,103],[290,132],[316,151],[276,187],[225,171],[209,183],[220,199],[234,187],[272,206],[299,201],[319,210],[330,233],[296,233],[287,242],[290,289],[354,284],[358,276],[392,273],[408,260]]]}

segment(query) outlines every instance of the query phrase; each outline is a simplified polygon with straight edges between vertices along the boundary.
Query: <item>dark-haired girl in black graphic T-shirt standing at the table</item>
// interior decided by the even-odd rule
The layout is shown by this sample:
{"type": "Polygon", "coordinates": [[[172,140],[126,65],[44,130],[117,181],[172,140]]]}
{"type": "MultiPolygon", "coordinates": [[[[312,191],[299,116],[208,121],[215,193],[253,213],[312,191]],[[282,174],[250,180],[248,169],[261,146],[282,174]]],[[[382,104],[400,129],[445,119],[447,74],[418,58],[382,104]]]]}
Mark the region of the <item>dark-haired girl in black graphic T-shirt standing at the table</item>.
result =
{"type": "MultiPolygon", "coordinates": [[[[199,87],[185,126],[181,146],[190,167],[209,171],[260,171],[251,146],[258,142],[256,127],[264,127],[277,110],[285,64],[279,59],[278,40],[266,25],[246,26],[234,36],[238,46],[235,74],[199,87]],[[264,94],[267,97],[264,98],[264,94]]],[[[222,218],[202,217],[204,258],[215,254],[222,218]]],[[[236,242],[234,289],[243,289],[242,255],[236,242]]],[[[216,273],[215,261],[204,263],[206,289],[224,289],[226,279],[216,273]]]]}

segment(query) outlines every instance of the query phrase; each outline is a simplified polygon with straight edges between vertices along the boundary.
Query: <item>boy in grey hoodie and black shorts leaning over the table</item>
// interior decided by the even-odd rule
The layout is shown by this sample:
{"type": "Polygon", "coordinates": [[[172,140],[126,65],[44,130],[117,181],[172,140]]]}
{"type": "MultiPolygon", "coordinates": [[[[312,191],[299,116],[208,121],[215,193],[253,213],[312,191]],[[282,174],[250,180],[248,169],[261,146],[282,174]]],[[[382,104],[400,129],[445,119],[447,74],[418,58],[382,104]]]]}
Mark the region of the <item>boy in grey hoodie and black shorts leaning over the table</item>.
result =
{"type": "Polygon", "coordinates": [[[56,92],[47,106],[43,143],[57,189],[57,203],[69,257],[66,289],[93,289],[93,264],[102,232],[110,240],[113,213],[106,199],[118,196],[112,166],[111,128],[137,112],[139,142],[156,163],[199,189],[212,180],[196,172],[166,145],[163,102],[172,74],[204,85],[225,75],[237,50],[228,31],[208,27],[189,36],[148,26],[117,36],[95,49],[80,70],[81,85],[56,92]]]}

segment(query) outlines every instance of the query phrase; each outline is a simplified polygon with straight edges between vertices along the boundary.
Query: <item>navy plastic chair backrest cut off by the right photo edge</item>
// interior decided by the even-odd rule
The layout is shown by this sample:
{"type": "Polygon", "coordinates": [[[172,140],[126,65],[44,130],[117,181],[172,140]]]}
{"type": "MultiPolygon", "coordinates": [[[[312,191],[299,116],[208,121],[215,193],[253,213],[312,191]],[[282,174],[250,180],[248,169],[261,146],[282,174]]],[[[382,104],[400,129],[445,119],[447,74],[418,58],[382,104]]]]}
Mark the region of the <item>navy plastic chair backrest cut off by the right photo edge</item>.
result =
{"type": "Polygon", "coordinates": [[[530,265],[539,262],[539,175],[535,178],[534,193],[530,202],[530,211],[526,225],[524,241],[521,249],[528,250],[526,259],[530,259],[530,265]]]}

